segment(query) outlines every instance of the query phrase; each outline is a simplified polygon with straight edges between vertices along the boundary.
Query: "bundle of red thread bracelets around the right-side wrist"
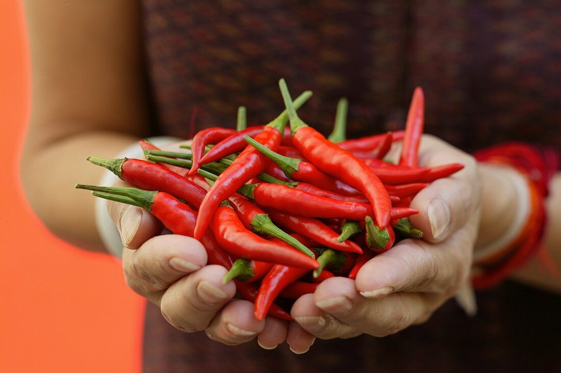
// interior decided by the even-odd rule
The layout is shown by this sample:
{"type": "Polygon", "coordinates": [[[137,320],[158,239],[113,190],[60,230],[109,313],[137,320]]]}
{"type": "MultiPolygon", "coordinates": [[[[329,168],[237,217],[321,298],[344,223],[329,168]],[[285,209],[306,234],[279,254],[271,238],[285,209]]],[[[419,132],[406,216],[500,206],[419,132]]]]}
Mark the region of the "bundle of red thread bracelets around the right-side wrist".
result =
{"type": "Polygon", "coordinates": [[[553,150],[542,150],[521,142],[509,142],[482,149],[473,154],[479,162],[509,165],[527,177],[530,190],[530,214],[518,237],[500,250],[500,256],[479,264],[480,273],[472,277],[473,287],[484,289],[500,283],[525,264],[540,249],[547,224],[545,197],[548,185],[559,165],[553,150]]]}

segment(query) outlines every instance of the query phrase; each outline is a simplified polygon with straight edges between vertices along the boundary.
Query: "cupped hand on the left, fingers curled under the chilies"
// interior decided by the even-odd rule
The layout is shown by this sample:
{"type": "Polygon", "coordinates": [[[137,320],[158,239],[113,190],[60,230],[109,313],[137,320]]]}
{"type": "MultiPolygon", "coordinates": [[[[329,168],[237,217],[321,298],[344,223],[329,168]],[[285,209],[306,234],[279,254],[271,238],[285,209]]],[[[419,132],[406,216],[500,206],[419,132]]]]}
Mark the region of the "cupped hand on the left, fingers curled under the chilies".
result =
{"type": "MultiPolygon", "coordinates": [[[[168,150],[177,150],[178,144],[168,150]]],[[[130,186],[118,181],[115,186],[130,186]]],[[[222,284],[226,268],[207,265],[203,245],[194,238],[162,234],[163,225],[141,208],[108,201],[109,215],[123,241],[122,263],[128,286],[162,310],[175,328],[205,330],[224,344],[249,342],[264,348],[284,342],[286,321],[257,321],[251,302],[234,298],[236,285],[222,284]]]]}

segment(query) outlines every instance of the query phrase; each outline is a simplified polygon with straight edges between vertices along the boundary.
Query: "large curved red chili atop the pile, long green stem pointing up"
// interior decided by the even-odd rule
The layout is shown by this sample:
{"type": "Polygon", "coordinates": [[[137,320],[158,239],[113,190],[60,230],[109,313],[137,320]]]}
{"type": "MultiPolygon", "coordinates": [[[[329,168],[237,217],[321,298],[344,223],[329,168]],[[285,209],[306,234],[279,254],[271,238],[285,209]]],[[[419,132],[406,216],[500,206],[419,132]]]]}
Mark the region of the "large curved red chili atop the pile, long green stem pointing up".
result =
{"type": "Polygon", "coordinates": [[[389,224],[392,202],[378,176],[358,158],[337,144],[325,139],[321,133],[302,122],[292,105],[286,82],[279,82],[284,104],[288,109],[292,143],[320,171],[339,179],[361,191],[370,201],[376,224],[384,229],[389,224]]]}

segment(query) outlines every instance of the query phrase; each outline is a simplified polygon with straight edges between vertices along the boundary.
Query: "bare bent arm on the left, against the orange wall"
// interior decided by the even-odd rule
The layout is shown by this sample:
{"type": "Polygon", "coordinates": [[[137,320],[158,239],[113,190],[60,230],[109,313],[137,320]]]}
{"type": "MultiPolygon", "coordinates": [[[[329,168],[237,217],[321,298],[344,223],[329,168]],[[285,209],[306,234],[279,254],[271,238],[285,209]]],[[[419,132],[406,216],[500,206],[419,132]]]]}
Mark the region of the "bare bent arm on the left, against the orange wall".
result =
{"type": "Polygon", "coordinates": [[[114,156],[147,135],[140,6],[26,0],[25,11],[33,102],[21,162],[24,188],[53,233],[103,250],[94,199],[73,185],[99,181],[102,169],[89,167],[86,156],[114,156]]]}

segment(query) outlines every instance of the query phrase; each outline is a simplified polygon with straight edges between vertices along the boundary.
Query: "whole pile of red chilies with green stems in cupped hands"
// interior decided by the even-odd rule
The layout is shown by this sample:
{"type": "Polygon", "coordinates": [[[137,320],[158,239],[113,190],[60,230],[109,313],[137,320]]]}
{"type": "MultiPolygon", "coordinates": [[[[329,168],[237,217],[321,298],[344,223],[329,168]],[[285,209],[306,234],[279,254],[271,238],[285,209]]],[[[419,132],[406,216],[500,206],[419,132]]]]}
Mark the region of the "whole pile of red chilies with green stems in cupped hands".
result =
{"type": "Polygon", "coordinates": [[[314,292],[334,276],[358,270],[396,240],[421,238],[408,219],[410,201],[428,183],[461,164],[419,167],[424,96],[417,88],[404,131],[346,139],[347,101],[337,106],[326,139],[306,125],[284,80],[286,110],[264,126],[212,127],[197,133],[185,152],[141,141],[146,160],[90,157],[136,188],[96,187],[93,195],[149,210],[173,233],[195,237],[209,263],[229,271],[237,291],[255,303],[255,317],[290,320],[274,303],[314,292]],[[287,123],[289,122],[289,127],[287,123]],[[397,164],[384,159],[402,141],[397,164]]]}

